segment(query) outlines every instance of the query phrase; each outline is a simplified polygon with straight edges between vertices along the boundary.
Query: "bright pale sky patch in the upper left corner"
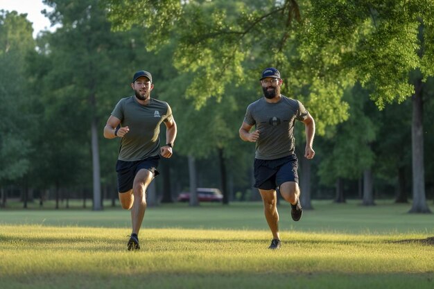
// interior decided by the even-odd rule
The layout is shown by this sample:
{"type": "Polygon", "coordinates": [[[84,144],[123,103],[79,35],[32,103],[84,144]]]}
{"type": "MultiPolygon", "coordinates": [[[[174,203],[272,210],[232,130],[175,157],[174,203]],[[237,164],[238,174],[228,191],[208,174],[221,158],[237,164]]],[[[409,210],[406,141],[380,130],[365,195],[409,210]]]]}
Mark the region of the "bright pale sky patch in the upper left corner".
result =
{"type": "Polygon", "coordinates": [[[28,21],[33,23],[33,38],[36,38],[37,33],[41,30],[55,30],[51,27],[49,19],[42,15],[41,11],[44,9],[52,10],[49,6],[45,6],[42,0],[0,0],[0,10],[15,10],[19,14],[27,13],[28,21]]]}

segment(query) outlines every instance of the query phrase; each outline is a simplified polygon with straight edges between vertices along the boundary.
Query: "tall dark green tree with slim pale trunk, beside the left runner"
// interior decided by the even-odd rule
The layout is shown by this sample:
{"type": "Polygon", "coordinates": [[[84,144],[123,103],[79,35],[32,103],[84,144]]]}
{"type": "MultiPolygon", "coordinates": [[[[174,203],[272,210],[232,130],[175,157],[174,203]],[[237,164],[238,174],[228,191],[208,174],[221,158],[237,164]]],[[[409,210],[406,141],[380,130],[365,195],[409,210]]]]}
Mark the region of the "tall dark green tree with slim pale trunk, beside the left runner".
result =
{"type": "Polygon", "coordinates": [[[64,121],[62,135],[53,141],[59,145],[79,143],[80,153],[70,154],[80,157],[84,153],[83,164],[93,180],[94,209],[99,210],[102,209],[99,143],[112,108],[128,91],[131,71],[135,69],[129,67],[135,48],[133,37],[111,32],[105,10],[98,6],[97,0],[44,3],[53,7],[46,16],[53,24],[61,25],[46,36],[49,40],[40,53],[51,63],[51,69],[40,75],[47,86],[44,105],[53,112],[51,121],[64,121]]]}

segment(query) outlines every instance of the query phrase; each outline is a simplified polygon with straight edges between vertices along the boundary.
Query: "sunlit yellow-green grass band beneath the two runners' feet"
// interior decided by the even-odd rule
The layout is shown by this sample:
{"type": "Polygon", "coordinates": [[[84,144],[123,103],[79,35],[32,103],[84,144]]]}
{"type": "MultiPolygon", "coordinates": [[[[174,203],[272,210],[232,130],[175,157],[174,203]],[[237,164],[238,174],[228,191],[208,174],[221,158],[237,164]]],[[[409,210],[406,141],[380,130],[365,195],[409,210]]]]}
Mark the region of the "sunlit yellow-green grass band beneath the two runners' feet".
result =
{"type": "MultiPolygon", "coordinates": [[[[166,288],[187,288],[177,287],[176,280],[194,276],[221,284],[225,278],[243,277],[241,283],[250,284],[250,278],[257,282],[262,278],[322,279],[329,274],[339,283],[351,276],[364,282],[362,276],[392,279],[399,274],[408,274],[410,279],[426,275],[428,280],[434,272],[432,245],[396,243],[426,238],[421,234],[288,231],[281,234],[283,247],[276,251],[267,249],[268,231],[144,229],[140,237],[142,249],[128,252],[124,229],[1,226],[1,288],[10,288],[3,287],[6,281],[43,283],[46,278],[60,282],[70,277],[80,279],[79,283],[83,279],[103,283],[114,277],[155,274],[167,279],[166,288]]],[[[161,282],[155,280],[155,284],[161,282]]]]}

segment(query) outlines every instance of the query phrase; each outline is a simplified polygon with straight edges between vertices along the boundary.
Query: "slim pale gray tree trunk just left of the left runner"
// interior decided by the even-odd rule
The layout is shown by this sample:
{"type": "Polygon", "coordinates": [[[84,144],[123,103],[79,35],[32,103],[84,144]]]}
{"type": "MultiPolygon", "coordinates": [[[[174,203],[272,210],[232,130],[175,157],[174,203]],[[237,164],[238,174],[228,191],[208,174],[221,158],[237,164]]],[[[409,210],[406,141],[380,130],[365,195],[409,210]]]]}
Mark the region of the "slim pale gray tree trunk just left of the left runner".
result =
{"type": "MultiPolygon", "coordinates": [[[[94,96],[93,96],[94,98],[94,96]]],[[[94,102],[92,102],[94,106],[94,102]]],[[[96,112],[96,109],[93,110],[96,112]]],[[[92,119],[92,168],[93,168],[93,180],[94,180],[94,211],[101,211],[103,206],[101,205],[101,170],[99,166],[99,148],[98,148],[98,132],[97,132],[97,120],[96,117],[92,119]]]]}

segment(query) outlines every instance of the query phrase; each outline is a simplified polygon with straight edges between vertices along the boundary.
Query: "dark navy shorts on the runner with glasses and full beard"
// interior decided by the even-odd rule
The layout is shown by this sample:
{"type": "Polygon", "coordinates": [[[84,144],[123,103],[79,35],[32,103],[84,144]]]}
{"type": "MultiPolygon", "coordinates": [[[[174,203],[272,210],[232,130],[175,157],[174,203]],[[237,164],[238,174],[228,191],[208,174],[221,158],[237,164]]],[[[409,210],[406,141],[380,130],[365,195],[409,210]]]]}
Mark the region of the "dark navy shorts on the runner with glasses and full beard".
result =
{"type": "Polygon", "coordinates": [[[284,182],[298,183],[297,168],[296,155],[280,159],[254,159],[254,187],[274,190],[284,182]]]}

